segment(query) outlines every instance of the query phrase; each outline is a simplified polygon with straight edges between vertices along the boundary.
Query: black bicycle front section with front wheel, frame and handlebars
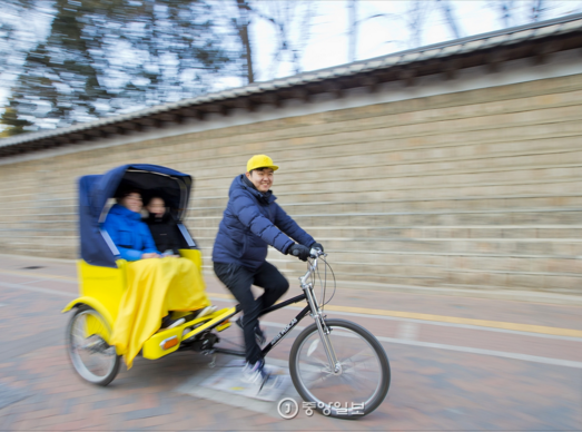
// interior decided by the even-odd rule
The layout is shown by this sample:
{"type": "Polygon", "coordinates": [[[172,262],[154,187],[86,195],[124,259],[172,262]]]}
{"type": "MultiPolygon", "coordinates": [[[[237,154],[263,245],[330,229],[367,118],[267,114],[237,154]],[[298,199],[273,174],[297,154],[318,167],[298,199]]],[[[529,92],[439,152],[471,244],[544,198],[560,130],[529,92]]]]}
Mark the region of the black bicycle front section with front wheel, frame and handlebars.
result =
{"type": "MultiPolygon", "coordinates": [[[[334,418],[355,419],[373,412],[386,397],[391,381],[389,362],[379,342],[367,330],[324,315],[325,294],[323,304],[318,304],[314,283],[309,279],[325,256],[327,254],[319,249],[312,249],[307,272],[299,277],[303,294],[262,312],[260,315],[265,315],[304,300],[307,302],[307,306],[265,345],[263,355],[266,356],[305,316],[310,315],[315,323],[303,330],[290,350],[293,384],[307,406],[334,418]],[[354,353],[346,354],[349,350],[354,353]]],[[[237,305],[236,310],[239,312],[240,306],[237,305]]],[[[213,352],[245,355],[220,347],[213,352]]]]}

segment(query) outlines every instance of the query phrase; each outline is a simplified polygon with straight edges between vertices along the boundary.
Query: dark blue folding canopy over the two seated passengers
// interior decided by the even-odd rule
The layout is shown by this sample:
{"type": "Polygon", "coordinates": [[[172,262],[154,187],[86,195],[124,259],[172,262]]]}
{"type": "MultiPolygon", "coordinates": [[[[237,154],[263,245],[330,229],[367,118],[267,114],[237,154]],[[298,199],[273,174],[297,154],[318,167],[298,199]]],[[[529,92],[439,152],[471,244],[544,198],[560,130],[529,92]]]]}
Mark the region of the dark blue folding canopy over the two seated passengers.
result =
{"type": "Polygon", "coordinates": [[[181,223],[190,197],[189,175],[158,165],[132,164],[111,169],[103,175],[79,178],[79,234],[82,259],[91,265],[116,267],[116,247],[101,230],[109,210],[110,198],[120,187],[141,190],[144,200],[159,196],[181,223]]]}

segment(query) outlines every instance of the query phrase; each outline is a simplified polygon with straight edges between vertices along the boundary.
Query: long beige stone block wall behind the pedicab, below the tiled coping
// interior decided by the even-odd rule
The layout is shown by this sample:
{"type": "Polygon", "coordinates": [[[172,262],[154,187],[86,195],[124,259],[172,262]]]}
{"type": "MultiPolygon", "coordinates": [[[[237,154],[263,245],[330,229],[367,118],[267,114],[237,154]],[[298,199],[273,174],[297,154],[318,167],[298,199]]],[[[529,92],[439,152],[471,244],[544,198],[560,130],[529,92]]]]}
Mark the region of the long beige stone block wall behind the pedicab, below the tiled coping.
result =
{"type": "MultiPolygon", "coordinates": [[[[253,154],[345,286],[582,294],[582,75],[47,155],[0,166],[4,253],[76,257],[77,178],[126,163],[195,177],[187,225],[210,271],[253,154]]],[[[290,279],[304,268],[276,251],[290,279]]]]}

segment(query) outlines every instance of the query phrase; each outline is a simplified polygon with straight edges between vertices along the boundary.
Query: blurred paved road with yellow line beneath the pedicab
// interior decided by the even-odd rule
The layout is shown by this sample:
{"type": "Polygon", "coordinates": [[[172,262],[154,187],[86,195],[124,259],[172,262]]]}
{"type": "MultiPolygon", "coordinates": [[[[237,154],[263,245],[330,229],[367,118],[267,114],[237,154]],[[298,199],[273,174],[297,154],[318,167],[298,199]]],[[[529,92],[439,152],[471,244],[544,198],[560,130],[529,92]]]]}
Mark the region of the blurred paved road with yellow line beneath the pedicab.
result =
{"type": "MultiPolygon", "coordinates": [[[[358,421],[303,410],[283,420],[275,403],[201,390],[196,383],[216,370],[189,352],[137,359],[105,389],[81,382],[63,346],[69,316],[60,314],[77,293],[75,264],[1,258],[0,430],[582,430],[580,306],[338,287],[328,315],[382,342],[388,397],[358,421]]],[[[207,283],[217,305],[233,302],[207,283]]],[[[274,335],[296,313],[264,324],[274,335]]],[[[238,330],[224,335],[225,346],[240,344],[238,330]]],[[[293,335],[272,364],[285,364],[293,335]]],[[[294,389],[285,395],[300,404],[294,389]]]]}

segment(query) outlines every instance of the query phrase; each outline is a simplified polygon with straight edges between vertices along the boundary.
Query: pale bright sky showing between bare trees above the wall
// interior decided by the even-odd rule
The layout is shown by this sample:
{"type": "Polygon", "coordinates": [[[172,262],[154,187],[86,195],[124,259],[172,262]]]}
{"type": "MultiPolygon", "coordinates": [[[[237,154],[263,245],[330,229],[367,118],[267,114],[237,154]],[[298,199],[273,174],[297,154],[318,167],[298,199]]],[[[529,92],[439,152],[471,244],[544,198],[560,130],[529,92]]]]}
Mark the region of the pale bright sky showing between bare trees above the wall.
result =
{"type": "MultiPolygon", "coordinates": [[[[234,0],[220,1],[233,8],[234,0]]],[[[270,14],[280,12],[277,0],[255,0],[258,7],[270,14]],[[278,8],[278,9],[277,9],[278,8]]],[[[299,49],[300,71],[310,71],[349,62],[348,57],[348,0],[295,0],[295,16],[289,28],[292,41],[299,49]],[[305,10],[312,10],[309,26],[305,26],[305,10]]],[[[507,1],[505,1],[507,2],[507,1]]],[[[357,1],[357,47],[356,60],[385,56],[391,52],[415,48],[410,31],[411,8],[416,2],[412,0],[358,0],[357,1]],[[371,18],[374,17],[374,18],[371,18]]],[[[453,14],[456,17],[461,36],[472,36],[502,29],[500,4],[501,0],[452,0],[453,14]]],[[[533,0],[513,0],[513,17],[511,26],[530,22],[533,0]]],[[[551,19],[569,13],[582,12],[582,0],[544,0],[542,19],[551,19]]],[[[420,46],[437,43],[455,39],[438,2],[422,2],[423,22],[420,46]]],[[[236,13],[236,9],[230,10],[236,13]]],[[[36,35],[40,40],[48,33],[49,10],[36,17],[36,35]]],[[[275,62],[277,53],[277,35],[272,23],[266,20],[255,20],[251,28],[253,50],[255,57],[256,80],[269,80],[296,73],[296,68],[289,58],[275,62]]],[[[0,41],[1,42],[1,41],[0,41]]],[[[16,76],[0,77],[0,107],[9,96],[10,79],[16,76]]],[[[240,77],[228,77],[216,81],[213,90],[245,85],[240,77]]],[[[0,108],[1,110],[1,108],[0,108]]]]}

